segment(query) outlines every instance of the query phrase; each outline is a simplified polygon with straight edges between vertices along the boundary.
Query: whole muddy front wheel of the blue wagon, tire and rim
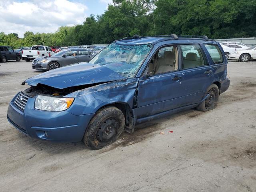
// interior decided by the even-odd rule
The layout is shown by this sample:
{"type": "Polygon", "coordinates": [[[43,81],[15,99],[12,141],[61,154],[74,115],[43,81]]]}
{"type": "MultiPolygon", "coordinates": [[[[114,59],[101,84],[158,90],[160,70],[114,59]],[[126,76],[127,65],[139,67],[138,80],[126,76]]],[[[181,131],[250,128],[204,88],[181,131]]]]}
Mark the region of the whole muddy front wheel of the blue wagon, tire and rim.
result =
{"type": "Polygon", "coordinates": [[[90,121],[84,134],[85,145],[97,150],[115,142],[124,130],[124,114],[116,107],[99,110],[90,121]]]}

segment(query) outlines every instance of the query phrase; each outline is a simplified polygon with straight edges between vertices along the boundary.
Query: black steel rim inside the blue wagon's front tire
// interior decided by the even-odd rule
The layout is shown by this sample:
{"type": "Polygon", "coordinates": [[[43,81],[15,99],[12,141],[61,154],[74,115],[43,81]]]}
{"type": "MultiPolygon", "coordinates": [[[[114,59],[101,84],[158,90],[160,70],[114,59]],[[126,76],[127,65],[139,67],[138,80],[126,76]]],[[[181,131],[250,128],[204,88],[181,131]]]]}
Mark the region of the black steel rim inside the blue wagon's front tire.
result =
{"type": "Polygon", "coordinates": [[[103,145],[109,144],[118,130],[118,120],[116,118],[108,118],[104,120],[96,133],[96,139],[103,145]]]}

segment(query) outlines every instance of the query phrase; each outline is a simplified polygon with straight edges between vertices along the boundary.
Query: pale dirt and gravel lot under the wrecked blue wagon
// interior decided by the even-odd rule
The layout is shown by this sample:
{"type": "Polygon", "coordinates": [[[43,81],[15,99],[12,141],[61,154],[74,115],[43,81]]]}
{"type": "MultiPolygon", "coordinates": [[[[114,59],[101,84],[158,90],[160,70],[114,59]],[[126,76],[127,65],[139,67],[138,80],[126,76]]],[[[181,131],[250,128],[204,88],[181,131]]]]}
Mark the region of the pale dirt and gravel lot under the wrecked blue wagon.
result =
{"type": "Polygon", "coordinates": [[[8,123],[8,102],[28,88],[21,82],[42,73],[31,63],[0,63],[1,192],[256,191],[256,62],[228,63],[216,109],[138,125],[97,151],[34,140],[8,123]]]}

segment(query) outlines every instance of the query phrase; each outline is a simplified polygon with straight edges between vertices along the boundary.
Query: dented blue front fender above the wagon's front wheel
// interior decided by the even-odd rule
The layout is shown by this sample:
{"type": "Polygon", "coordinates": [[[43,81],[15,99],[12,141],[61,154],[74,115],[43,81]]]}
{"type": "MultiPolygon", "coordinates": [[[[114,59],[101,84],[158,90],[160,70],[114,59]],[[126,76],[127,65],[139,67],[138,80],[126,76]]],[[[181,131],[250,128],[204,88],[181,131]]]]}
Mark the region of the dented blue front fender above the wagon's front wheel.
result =
{"type": "Polygon", "coordinates": [[[132,109],[138,81],[138,78],[127,78],[72,92],[66,95],[75,98],[68,112],[74,115],[93,114],[114,103],[126,103],[132,109]]]}

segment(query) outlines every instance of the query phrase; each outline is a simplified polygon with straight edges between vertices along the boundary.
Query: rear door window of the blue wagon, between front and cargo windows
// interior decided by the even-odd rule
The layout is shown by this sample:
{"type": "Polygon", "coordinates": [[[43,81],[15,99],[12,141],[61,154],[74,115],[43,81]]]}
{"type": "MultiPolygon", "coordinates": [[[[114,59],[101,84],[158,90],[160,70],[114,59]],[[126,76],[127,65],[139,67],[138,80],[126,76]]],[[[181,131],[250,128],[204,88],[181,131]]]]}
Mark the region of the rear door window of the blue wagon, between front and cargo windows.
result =
{"type": "Polygon", "coordinates": [[[200,45],[181,45],[183,69],[204,66],[206,64],[200,45]]]}

